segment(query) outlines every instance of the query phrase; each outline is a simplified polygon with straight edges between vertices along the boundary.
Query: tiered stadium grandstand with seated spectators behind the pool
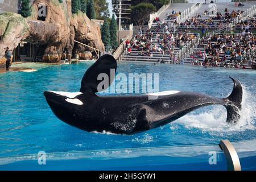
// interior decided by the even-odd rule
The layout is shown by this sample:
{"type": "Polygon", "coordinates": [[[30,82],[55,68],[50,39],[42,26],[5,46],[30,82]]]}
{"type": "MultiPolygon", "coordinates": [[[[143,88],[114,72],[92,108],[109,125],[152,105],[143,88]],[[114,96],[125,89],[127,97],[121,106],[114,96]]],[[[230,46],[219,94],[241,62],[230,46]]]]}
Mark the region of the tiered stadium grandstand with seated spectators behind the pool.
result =
{"type": "MultiPolygon", "coordinates": [[[[223,17],[220,19],[214,18],[214,16],[210,16],[208,14],[204,14],[205,10],[210,10],[209,3],[207,4],[201,4],[199,6],[200,8],[197,9],[195,13],[191,14],[191,17],[197,17],[198,14],[201,15],[199,18],[200,21],[203,22],[204,26],[207,27],[207,23],[212,21],[213,25],[212,29],[213,30],[219,30],[221,26],[219,24],[227,24],[229,22],[223,22],[224,15],[225,15],[225,9],[228,10],[228,13],[231,13],[232,11],[238,12],[238,14],[241,14],[243,11],[246,11],[250,7],[256,5],[256,2],[242,2],[244,6],[237,6],[235,2],[231,3],[216,3],[217,10],[216,12],[220,12],[223,17]],[[239,10],[239,11],[238,11],[239,10]],[[222,20],[220,23],[219,21],[222,20]]],[[[214,35],[210,34],[205,36],[203,39],[200,40],[199,45],[189,47],[188,52],[185,53],[184,57],[179,57],[179,54],[181,52],[181,49],[185,46],[188,46],[189,41],[191,41],[194,38],[199,39],[199,34],[195,33],[190,33],[187,29],[188,28],[183,28],[184,23],[177,24],[178,29],[175,30],[175,20],[177,18],[176,15],[179,16],[178,13],[182,13],[183,11],[190,9],[192,6],[195,6],[194,3],[173,3],[171,6],[168,6],[167,9],[162,11],[157,17],[156,20],[151,25],[151,28],[148,30],[143,30],[139,31],[137,37],[133,38],[133,40],[130,41],[129,44],[127,44],[126,51],[122,55],[122,60],[124,61],[151,61],[151,62],[166,62],[166,63],[184,63],[184,64],[193,64],[193,65],[212,65],[212,66],[223,66],[223,67],[249,67],[252,61],[254,61],[255,57],[255,51],[248,51],[248,48],[245,47],[246,51],[243,50],[240,52],[238,58],[241,60],[238,61],[238,59],[234,59],[234,56],[232,56],[232,53],[229,54],[223,54],[223,53],[218,53],[217,57],[216,55],[212,56],[209,55],[209,52],[205,51],[205,48],[209,44],[209,42],[205,42],[207,39],[211,38],[212,36],[221,36],[221,35],[214,35]],[[167,15],[172,15],[175,13],[175,16],[167,16],[167,15]],[[148,35],[150,35],[148,37],[148,35]],[[175,39],[175,43],[172,44],[171,46],[168,45],[170,42],[164,40],[162,37],[163,36],[168,36],[171,35],[175,39]],[[181,37],[189,37],[189,39],[185,39],[185,41],[181,41],[182,44],[176,44],[176,40],[179,39],[179,36],[182,35],[181,37]],[[141,41],[142,37],[145,37],[141,41]],[[137,42],[134,44],[134,41],[137,42]],[[144,42],[142,45],[138,42],[144,42]],[[137,45],[138,44],[138,45],[137,45]],[[152,46],[151,49],[149,49],[149,45],[154,46],[156,48],[156,51],[152,51],[152,46]],[[131,47],[131,48],[129,48],[131,47]],[[158,51],[157,49],[161,47],[162,50],[158,51]],[[168,49],[167,49],[167,48],[168,49]],[[129,49],[128,49],[129,48],[129,49]],[[171,50],[171,51],[170,51],[171,50]],[[192,55],[192,56],[191,56],[192,55]],[[204,55],[204,56],[203,56],[204,55]],[[241,56],[240,56],[241,55],[241,56]],[[224,57],[225,56],[225,57],[224,57]],[[205,63],[205,57],[207,57],[207,63],[205,63]],[[224,58],[223,58],[224,57],[224,58]],[[224,61],[223,61],[224,60],[224,61]]],[[[190,18],[191,18],[190,17],[190,18]]],[[[219,17],[218,17],[219,18],[219,17]]],[[[256,21],[255,18],[249,18],[243,22],[240,22],[236,24],[236,31],[239,33],[245,31],[246,26],[250,25],[250,30],[246,30],[246,33],[250,34],[250,31],[255,30],[256,28],[256,21]]],[[[200,26],[197,26],[196,28],[193,26],[189,27],[189,30],[197,30],[200,26]]],[[[210,26],[209,26],[210,27],[210,26]]],[[[226,34],[226,32],[223,32],[226,34]]],[[[216,34],[216,33],[215,33],[216,34]]],[[[243,32],[245,34],[245,32],[243,32]]],[[[247,34],[246,34],[247,35],[247,34]]],[[[244,48],[243,46],[248,46],[244,40],[247,40],[245,37],[246,35],[235,35],[236,39],[234,39],[234,44],[236,45],[237,43],[240,43],[241,48],[244,48]],[[237,39],[238,36],[242,36],[241,41],[237,39]]],[[[255,42],[255,36],[251,35],[251,39],[255,42]]],[[[167,40],[169,40],[167,38],[167,40]]],[[[250,40],[251,41],[251,40],[250,40]]],[[[217,42],[218,43],[218,42],[217,42]]],[[[210,44],[216,44],[214,42],[210,42],[210,44]]],[[[250,46],[252,46],[253,43],[250,43],[250,46]]],[[[236,51],[233,49],[231,50],[234,54],[236,51]]],[[[236,55],[236,54],[235,54],[236,55]]]]}

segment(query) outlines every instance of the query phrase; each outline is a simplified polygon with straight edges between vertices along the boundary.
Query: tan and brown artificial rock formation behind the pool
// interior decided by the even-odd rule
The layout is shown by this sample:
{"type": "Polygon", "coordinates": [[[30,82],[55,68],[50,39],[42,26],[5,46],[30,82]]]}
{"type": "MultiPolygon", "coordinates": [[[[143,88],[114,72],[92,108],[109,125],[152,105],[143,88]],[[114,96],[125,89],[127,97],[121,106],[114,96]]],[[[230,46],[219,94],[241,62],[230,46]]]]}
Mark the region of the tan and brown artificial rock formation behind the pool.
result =
{"type": "Polygon", "coordinates": [[[56,63],[65,54],[75,53],[81,59],[92,58],[92,49],[77,46],[74,40],[100,49],[104,52],[100,26],[91,22],[81,11],[71,13],[71,0],[35,0],[31,6],[32,14],[28,18],[15,13],[0,14],[0,59],[5,48],[14,49],[21,41],[41,45],[45,48],[43,61],[56,63]],[[46,6],[46,18],[38,20],[40,7],[46,6]],[[88,52],[89,51],[89,52],[88,52]]]}

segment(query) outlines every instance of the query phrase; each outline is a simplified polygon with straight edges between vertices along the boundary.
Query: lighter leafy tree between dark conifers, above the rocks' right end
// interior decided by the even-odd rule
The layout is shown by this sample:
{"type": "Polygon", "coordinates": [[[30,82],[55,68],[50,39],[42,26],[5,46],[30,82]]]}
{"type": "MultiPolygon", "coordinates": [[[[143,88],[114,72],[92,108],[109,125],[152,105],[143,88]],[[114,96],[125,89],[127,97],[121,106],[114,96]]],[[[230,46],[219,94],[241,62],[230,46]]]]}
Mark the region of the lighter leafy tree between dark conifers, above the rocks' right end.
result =
{"type": "Polygon", "coordinates": [[[109,14],[109,3],[106,0],[94,0],[95,14],[97,19],[104,19],[109,14]]]}

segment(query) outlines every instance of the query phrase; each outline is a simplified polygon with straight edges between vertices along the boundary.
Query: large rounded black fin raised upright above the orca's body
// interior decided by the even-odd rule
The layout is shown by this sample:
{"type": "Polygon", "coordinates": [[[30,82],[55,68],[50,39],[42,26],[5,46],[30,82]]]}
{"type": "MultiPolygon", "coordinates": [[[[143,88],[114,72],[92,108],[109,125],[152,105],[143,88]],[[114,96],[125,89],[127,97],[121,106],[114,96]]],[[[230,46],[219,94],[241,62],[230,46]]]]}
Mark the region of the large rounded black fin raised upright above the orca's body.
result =
{"type": "Polygon", "coordinates": [[[117,71],[117,61],[114,57],[108,54],[101,56],[92,66],[90,66],[90,68],[87,69],[84,77],[82,77],[80,92],[96,93],[107,89],[114,80],[114,76],[110,76],[110,73],[113,71],[114,73],[117,71]],[[98,76],[101,73],[108,75],[109,84],[105,88],[98,88],[98,85],[102,82],[102,80],[98,80],[98,76]]]}

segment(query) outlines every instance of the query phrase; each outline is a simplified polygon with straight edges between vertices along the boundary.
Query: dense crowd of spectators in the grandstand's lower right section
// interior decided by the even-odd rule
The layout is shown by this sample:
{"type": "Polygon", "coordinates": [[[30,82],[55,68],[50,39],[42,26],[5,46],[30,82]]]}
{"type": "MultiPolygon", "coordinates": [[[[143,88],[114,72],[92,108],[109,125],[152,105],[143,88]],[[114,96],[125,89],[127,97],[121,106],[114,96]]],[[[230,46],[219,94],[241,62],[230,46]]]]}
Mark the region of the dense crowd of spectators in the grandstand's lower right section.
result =
{"type": "MultiPolygon", "coordinates": [[[[245,53],[255,51],[256,36],[251,32],[243,31],[244,34],[229,35],[217,34],[205,36],[200,43],[200,47],[205,51],[197,51],[191,58],[194,65],[206,65],[216,67],[217,63],[225,67],[228,63],[233,63],[236,68],[242,66],[245,61],[245,53]],[[200,62],[199,60],[203,60],[200,62]]],[[[248,60],[249,65],[253,60],[248,60]]]]}

